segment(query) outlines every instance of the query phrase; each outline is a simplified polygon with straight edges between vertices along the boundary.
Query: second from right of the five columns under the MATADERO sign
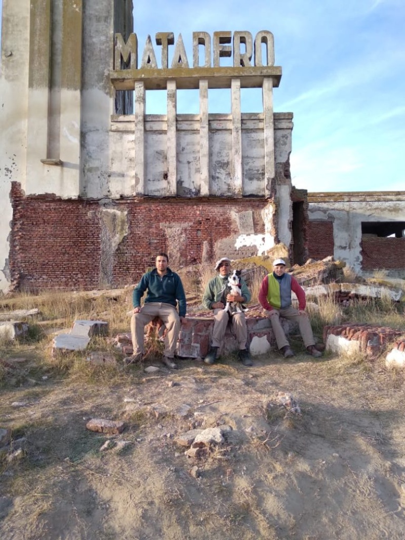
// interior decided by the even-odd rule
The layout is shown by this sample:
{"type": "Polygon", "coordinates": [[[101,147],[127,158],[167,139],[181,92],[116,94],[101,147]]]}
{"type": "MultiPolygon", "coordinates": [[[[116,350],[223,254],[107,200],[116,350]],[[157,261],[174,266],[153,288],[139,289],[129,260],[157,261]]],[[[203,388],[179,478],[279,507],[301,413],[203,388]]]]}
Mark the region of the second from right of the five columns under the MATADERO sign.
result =
{"type": "Polygon", "coordinates": [[[234,195],[241,197],[242,186],[242,120],[240,112],[240,79],[231,81],[232,110],[232,182],[234,195]]]}

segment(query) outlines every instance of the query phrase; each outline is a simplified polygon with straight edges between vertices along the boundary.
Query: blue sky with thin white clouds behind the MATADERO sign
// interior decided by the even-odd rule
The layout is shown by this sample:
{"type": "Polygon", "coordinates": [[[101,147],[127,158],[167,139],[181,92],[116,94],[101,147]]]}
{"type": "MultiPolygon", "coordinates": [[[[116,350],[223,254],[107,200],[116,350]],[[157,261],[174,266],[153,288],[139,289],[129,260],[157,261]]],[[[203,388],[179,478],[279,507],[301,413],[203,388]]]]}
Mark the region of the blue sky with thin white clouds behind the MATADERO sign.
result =
{"type": "MultiPolygon", "coordinates": [[[[139,56],[150,34],[159,66],[156,32],[181,33],[190,65],[193,31],[273,32],[274,111],[294,113],[293,185],[308,191],[405,190],[404,27],[403,0],[134,0],[139,56]]],[[[241,99],[262,110],[260,90],[241,99]]],[[[146,107],[165,113],[164,93],[146,107]]],[[[210,91],[209,107],[230,112],[230,91],[210,91]]],[[[178,91],[178,112],[198,112],[197,91],[178,91]]]]}

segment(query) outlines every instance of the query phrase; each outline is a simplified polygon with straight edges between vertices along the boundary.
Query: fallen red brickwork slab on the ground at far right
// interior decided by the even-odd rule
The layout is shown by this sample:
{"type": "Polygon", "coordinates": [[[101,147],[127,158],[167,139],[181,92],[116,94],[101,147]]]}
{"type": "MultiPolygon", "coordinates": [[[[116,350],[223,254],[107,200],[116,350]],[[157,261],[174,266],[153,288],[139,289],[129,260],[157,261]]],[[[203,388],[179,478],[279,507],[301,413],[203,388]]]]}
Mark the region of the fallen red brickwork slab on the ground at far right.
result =
{"type": "Polygon", "coordinates": [[[328,349],[330,335],[340,336],[348,341],[357,341],[360,352],[367,356],[375,357],[395,338],[402,336],[401,330],[387,328],[378,325],[354,323],[351,325],[325,326],[323,328],[323,341],[328,349]]]}

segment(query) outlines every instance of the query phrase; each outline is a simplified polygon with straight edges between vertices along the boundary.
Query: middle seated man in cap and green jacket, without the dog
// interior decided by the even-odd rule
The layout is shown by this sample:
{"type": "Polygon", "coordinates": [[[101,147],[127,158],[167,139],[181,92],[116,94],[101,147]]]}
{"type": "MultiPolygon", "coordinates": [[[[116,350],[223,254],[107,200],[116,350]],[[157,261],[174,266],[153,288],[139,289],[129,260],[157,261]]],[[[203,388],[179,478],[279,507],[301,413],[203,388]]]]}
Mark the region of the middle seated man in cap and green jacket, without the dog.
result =
{"type": "Polygon", "coordinates": [[[211,279],[204,291],[203,305],[214,311],[214,328],[212,331],[211,348],[204,359],[207,364],[213,364],[217,357],[218,349],[224,341],[228,322],[231,322],[232,331],[236,336],[239,347],[239,360],[244,366],[253,366],[253,362],[247,348],[247,326],[245,313],[224,311],[226,302],[247,303],[251,299],[251,293],[245,281],[241,280],[241,294],[229,294],[226,292],[228,275],[231,272],[231,259],[222,257],[215,263],[218,275],[211,279]]]}

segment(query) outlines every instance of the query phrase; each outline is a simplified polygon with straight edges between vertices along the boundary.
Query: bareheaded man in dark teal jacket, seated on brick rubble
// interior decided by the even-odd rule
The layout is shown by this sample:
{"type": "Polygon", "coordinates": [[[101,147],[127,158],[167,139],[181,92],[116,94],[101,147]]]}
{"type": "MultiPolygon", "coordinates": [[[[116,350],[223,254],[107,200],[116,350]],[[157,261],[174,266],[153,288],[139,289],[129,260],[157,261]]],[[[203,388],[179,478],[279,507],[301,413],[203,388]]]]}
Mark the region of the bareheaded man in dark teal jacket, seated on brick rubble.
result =
{"type": "Polygon", "coordinates": [[[165,350],[163,363],[170,369],[176,369],[173,361],[180,327],[186,316],[186,295],[180,276],[172,272],[168,265],[166,253],[159,253],[156,257],[156,268],[146,272],[138,285],[133,289],[132,303],[133,315],[131,318],[131,335],[133,355],[124,359],[124,363],[131,364],[142,359],[144,349],[145,325],[158,316],[166,326],[165,350]],[[147,291],[144,305],[140,306],[140,299],[147,291]],[[179,313],[177,313],[177,302],[179,313]]]}

